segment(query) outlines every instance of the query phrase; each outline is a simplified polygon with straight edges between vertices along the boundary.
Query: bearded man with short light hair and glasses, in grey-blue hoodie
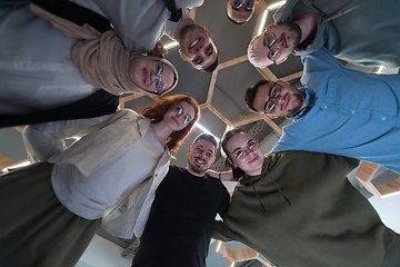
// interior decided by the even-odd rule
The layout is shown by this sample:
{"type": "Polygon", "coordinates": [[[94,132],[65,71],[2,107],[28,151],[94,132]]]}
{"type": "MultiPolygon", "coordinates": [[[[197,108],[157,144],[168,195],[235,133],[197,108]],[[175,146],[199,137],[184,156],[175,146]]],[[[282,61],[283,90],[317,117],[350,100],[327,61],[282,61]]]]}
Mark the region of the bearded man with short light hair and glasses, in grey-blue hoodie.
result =
{"type": "Polygon", "coordinates": [[[336,58],[361,66],[400,66],[397,0],[290,0],[274,23],[248,48],[252,65],[282,63],[290,53],[304,56],[326,47],[336,58]]]}

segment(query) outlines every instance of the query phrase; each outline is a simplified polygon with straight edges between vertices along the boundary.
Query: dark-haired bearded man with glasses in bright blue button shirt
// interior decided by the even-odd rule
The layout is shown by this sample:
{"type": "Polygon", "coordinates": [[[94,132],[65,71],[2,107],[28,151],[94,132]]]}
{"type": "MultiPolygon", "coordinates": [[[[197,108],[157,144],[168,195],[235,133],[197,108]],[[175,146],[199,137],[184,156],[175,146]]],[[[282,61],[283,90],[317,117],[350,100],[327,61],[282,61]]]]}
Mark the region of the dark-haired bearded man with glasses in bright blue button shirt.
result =
{"type": "Polygon", "coordinates": [[[400,75],[344,68],[324,48],[302,57],[298,90],[283,81],[259,81],[246,91],[248,108],[293,122],[270,154],[304,150],[379,164],[400,174],[400,75]]]}

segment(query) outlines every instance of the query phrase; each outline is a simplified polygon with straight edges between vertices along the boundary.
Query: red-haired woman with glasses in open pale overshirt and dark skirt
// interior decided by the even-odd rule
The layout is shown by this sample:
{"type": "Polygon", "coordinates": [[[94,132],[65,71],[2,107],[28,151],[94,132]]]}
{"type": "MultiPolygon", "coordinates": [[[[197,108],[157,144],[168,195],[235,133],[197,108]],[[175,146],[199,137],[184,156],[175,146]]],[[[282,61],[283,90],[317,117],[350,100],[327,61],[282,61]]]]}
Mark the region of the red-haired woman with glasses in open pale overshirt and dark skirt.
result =
{"type": "Polygon", "coordinates": [[[177,95],[99,118],[28,126],[41,161],[0,177],[0,265],[74,266],[100,227],[140,237],[170,157],[200,109],[177,95]],[[67,149],[64,139],[78,140],[67,149]]]}

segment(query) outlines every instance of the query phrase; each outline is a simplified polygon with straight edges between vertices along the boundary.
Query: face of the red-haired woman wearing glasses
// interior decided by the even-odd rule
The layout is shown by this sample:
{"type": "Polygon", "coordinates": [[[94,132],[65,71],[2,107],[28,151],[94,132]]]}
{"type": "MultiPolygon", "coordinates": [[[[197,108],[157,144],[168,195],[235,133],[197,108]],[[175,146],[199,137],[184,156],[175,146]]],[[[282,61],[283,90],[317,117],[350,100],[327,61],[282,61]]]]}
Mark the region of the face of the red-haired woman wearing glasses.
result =
{"type": "Polygon", "coordinates": [[[172,131],[179,131],[193,120],[194,115],[196,110],[190,103],[180,101],[167,110],[162,120],[172,131]]]}

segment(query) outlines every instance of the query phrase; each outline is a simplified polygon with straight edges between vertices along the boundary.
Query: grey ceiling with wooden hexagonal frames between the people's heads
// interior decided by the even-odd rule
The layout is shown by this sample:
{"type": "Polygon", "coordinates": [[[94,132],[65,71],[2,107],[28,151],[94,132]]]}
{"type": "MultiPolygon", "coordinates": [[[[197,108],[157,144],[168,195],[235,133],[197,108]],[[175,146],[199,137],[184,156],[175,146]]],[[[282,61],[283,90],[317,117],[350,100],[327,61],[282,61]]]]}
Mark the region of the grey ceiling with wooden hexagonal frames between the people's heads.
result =
{"type": "MultiPolygon", "coordinates": [[[[197,71],[183,61],[178,47],[171,48],[166,58],[171,61],[178,70],[179,82],[177,88],[168,95],[183,93],[193,97],[201,107],[200,123],[209,131],[221,138],[228,127],[242,127],[249,130],[258,121],[256,139],[262,141],[270,134],[280,136],[280,125],[284,119],[270,120],[263,116],[250,112],[244,103],[244,91],[259,79],[282,79],[291,85],[299,85],[302,75],[302,63],[299,57],[290,56],[280,66],[271,66],[266,69],[257,69],[247,57],[247,48],[259,29],[261,16],[268,6],[278,0],[260,0],[254,16],[243,26],[233,24],[226,13],[226,1],[206,0],[204,3],[191,11],[199,26],[206,26],[212,33],[220,52],[220,65],[212,73],[197,71]]],[[[267,22],[272,22],[276,10],[269,10],[267,22]]],[[[171,42],[168,37],[162,41],[171,42]]],[[[157,100],[149,96],[128,96],[121,99],[123,107],[140,111],[147,105],[157,100]]],[[[196,130],[177,154],[178,160],[173,164],[186,166],[186,151],[192,138],[201,131],[196,130]]],[[[264,151],[267,152],[267,151],[264,151]]],[[[219,155],[218,155],[219,158],[219,155]]],[[[219,160],[221,161],[221,160],[219,160]]],[[[221,165],[216,165],[219,169],[221,165]]]]}

